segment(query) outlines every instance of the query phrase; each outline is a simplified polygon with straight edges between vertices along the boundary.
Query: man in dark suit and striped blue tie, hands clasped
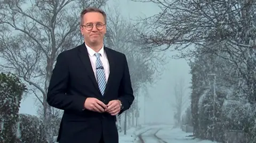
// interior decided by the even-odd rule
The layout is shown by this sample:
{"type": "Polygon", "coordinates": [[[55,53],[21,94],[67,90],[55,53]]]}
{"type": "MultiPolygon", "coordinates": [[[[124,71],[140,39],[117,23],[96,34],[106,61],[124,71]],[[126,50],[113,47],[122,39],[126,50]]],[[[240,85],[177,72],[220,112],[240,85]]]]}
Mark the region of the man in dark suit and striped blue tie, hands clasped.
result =
{"type": "Polygon", "coordinates": [[[85,42],[58,55],[47,93],[64,111],[57,141],[118,143],[116,115],[134,100],[126,57],[103,46],[105,12],[82,11],[80,29],[85,42]]]}

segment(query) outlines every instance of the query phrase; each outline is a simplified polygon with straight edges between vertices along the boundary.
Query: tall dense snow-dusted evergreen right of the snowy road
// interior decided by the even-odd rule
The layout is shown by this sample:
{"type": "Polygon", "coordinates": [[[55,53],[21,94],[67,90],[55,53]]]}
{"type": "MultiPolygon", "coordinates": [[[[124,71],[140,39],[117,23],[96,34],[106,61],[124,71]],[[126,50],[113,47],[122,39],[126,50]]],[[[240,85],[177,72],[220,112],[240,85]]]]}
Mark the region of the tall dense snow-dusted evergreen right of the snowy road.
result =
{"type": "MultiPolygon", "coordinates": [[[[211,48],[218,49],[219,44],[211,48]]],[[[204,139],[221,141],[221,107],[233,85],[234,70],[227,61],[215,53],[204,53],[204,48],[197,47],[198,54],[190,63],[192,74],[191,112],[195,135],[204,139]],[[230,90],[226,90],[230,89],[230,90]]],[[[222,54],[223,53],[217,53],[222,54]]],[[[229,93],[230,94],[230,93],[229,93]]]]}

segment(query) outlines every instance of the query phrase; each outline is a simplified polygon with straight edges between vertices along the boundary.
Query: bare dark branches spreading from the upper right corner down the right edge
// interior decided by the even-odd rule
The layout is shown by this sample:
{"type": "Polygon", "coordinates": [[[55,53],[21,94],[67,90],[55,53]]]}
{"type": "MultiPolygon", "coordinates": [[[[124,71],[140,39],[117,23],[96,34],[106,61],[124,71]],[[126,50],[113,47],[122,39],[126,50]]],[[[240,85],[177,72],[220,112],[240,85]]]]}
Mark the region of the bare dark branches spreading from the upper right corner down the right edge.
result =
{"type": "Polygon", "coordinates": [[[147,31],[137,43],[148,49],[181,52],[176,57],[217,54],[238,69],[250,102],[256,102],[256,2],[251,0],[165,1],[151,0],[161,9],[159,14],[142,19],[147,31]],[[222,44],[218,48],[212,45],[222,44]],[[195,46],[195,48],[193,47],[195,46]],[[202,50],[204,48],[204,50],[202,50]],[[202,53],[203,52],[203,53],[202,53]],[[223,54],[225,53],[225,54],[223,54]]]}

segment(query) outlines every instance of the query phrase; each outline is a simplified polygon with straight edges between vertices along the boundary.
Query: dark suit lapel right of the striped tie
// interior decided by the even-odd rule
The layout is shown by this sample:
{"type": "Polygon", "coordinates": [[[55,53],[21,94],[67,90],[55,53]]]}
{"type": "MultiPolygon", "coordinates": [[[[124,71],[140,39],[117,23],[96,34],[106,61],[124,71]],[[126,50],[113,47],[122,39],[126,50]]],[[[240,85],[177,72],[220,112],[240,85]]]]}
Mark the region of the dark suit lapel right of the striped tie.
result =
{"type": "Polygon", "coordinates": [[[114,71],[116,68],[115,68],[115,56],[113,55],[113,52],[111,52],[111,50],[107,47],[104,47],[104,49],[107,54],[108,63],[109,63],[109,77],[108,77],[108,82],[105,89],[105,94],[106,94],[109,90],[109,86],[111,82],[114,79],[114,74],[115,74],[114,71]]]}

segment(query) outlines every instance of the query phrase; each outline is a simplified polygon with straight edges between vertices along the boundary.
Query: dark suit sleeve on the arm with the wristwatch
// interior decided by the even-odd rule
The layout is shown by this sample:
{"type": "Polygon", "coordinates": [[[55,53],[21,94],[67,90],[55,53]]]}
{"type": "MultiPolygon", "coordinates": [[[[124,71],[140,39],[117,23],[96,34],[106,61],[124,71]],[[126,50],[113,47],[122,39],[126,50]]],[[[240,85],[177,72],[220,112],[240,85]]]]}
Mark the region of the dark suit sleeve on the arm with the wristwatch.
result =
{"type": "Polygon", "coordinates": [[[118,114],[120,115],[131,107],[134,100],[131,77],[130,77],[129,67],[128,67],[128,63],[125,55],[124,55],[123,78],[121,80],[121,85],[119,88],[118,99],[122,102],[124,106],[124,108],[118,114]]]}

